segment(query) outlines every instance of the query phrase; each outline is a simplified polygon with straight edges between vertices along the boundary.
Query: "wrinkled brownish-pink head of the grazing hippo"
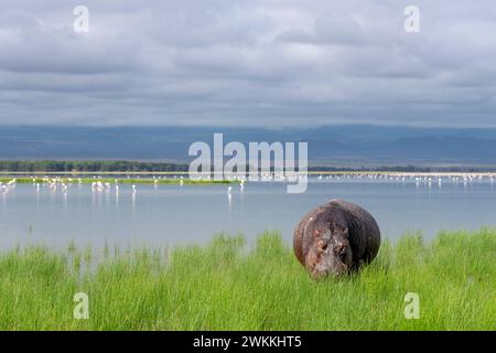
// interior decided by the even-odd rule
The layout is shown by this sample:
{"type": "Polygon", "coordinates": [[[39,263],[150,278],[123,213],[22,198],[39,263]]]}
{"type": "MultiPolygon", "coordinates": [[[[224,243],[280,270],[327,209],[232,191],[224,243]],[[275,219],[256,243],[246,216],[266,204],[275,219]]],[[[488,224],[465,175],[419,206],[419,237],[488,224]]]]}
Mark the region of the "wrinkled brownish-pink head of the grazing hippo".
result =
{"type": "Polygon", "coordinates": [[[348,228],[331,226],[326,229],[314,229],[305,266],[314,279],[346,274],[352,266],[348,228]]]}

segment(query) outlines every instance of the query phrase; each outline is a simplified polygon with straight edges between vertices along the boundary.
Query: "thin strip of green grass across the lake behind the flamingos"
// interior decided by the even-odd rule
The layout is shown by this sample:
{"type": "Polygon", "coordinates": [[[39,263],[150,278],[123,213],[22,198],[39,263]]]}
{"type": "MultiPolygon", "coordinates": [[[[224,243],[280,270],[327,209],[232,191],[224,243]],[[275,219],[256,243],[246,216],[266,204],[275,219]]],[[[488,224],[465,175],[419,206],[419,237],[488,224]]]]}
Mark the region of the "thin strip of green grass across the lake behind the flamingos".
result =
{"type": "MultiPolygon", "coordinates": [[[[26,184],[26,183],[43,183],[44,180],[41,176],[11,176],[11,178],[0,178],[0,182],[8,183],[12,179],[15,179],[15,182],[19,184],[26,184]]],[[[51,178],[53,180],[53,178],[51,178]]],[[[181,180],[185,185],[209,185],[209,184],[230,184],[235,183],[236,181],[231,180],[208,180],[208,179],[180,179],[180,178],[164,178],[164,179],[153,179],[153,178],[60,178],[58,182],[63,183],[73,183],[77,184],[90,184],[93,182],[101,182],[101,183],[110,183],[114,184],[118,181],[119,184],[160,184],[160,185],[179,185],[181,183],[181,180]]]]}

